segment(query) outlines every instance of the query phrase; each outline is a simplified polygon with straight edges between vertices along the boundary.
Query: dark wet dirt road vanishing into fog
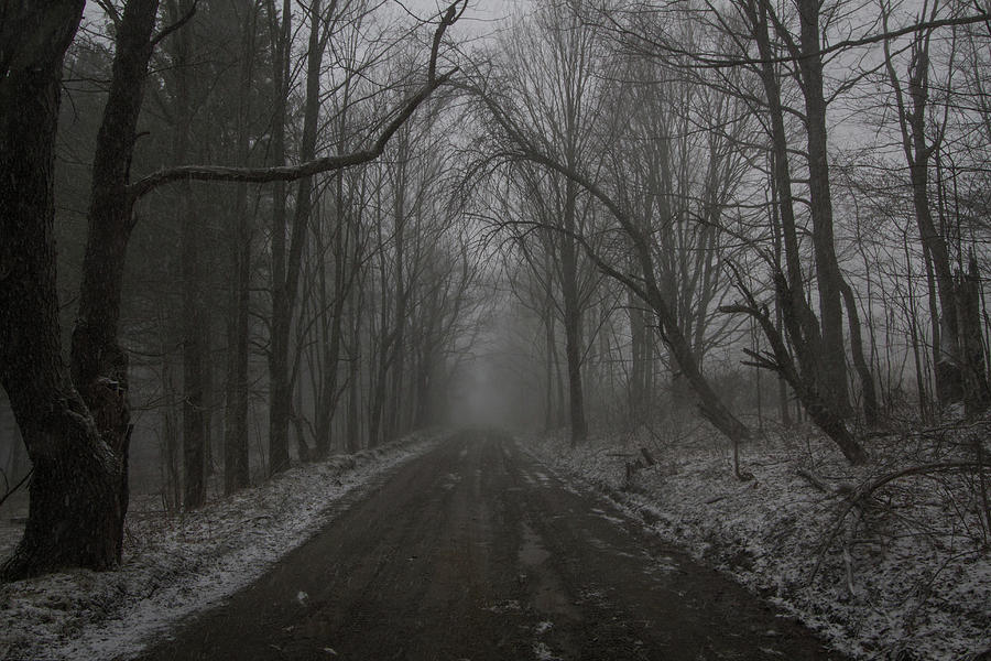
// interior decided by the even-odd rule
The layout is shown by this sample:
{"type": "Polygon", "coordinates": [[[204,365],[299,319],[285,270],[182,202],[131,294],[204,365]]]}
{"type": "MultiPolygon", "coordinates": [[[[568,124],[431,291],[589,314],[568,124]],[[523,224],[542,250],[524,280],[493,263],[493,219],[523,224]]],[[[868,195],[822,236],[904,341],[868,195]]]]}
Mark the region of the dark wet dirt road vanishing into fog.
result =
{"type": "Polygon", "coordinates": [[[641,527],[466,432],[142,659],[842,659],[641,527]]]}

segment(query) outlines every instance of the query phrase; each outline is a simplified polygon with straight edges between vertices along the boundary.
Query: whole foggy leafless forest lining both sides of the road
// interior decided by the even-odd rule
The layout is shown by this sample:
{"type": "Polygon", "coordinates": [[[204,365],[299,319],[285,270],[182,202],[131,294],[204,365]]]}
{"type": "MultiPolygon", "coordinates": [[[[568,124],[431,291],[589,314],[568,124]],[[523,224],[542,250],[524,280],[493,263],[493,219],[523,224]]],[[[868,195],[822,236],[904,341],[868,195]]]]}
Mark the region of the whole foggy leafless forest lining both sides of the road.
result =
{"type": "Polygon", "coordinates": [[[989,65],[982,0],[3,2],[0,575],[465,426],[828,456],[851,593],[869,499],[987,568],[989,65]]]}

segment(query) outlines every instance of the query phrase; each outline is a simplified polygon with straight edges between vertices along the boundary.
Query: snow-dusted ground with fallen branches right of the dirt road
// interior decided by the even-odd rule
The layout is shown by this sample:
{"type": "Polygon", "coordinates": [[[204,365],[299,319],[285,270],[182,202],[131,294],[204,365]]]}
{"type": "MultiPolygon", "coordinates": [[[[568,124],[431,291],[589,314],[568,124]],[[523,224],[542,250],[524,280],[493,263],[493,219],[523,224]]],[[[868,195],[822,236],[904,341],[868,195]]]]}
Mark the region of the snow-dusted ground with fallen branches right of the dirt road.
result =
{"type": "Polygon", "coordinates": [[[810,431],[778,431],[741,449],[749,481],[725,442],[685,429],[522,443],[854,658],[991,659],[991,484],[951,467],[978,460],[977,443],[991,455],[991,423],[874,438],[858,468],[810,431]],[[656,464],[628,479],[641,447],[656,464]],[[878,488],[858,498],[864,485],[878,488]]]}

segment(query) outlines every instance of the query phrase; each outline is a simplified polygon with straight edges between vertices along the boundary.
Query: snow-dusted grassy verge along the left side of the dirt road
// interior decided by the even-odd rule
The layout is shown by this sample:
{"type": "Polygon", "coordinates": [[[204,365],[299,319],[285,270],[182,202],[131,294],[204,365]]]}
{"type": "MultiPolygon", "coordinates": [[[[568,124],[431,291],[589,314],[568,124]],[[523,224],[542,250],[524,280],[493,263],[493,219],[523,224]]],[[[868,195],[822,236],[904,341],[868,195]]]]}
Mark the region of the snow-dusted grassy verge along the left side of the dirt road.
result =
{"type": "Polygon", "coordinates": [[[127,659],[260,577],[438,434],[292,468],[184,517],[129,519],[117,572],[0,585],[0,659],[127,659]]]}

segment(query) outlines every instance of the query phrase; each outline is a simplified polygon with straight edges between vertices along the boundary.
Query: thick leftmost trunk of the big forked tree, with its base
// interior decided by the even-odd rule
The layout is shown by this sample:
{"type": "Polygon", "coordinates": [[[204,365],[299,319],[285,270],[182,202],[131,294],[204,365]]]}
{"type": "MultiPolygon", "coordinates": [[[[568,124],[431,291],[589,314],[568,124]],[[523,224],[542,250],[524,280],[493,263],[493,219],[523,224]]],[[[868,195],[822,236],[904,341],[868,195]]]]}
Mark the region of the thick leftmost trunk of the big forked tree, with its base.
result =
{"type": "MultiPolygon", "coordinates": [[[[55,129],[83,4],[11,6],[0,25],[13,56],[0,72],[0,384],[34,466],[28,525],[4,578],[120,562],[127,416],[95,420],[69,382],[55,288],[55,129]]],[[[126,412],[113,386],[90,383],[89,395],[126,412]]]]}

